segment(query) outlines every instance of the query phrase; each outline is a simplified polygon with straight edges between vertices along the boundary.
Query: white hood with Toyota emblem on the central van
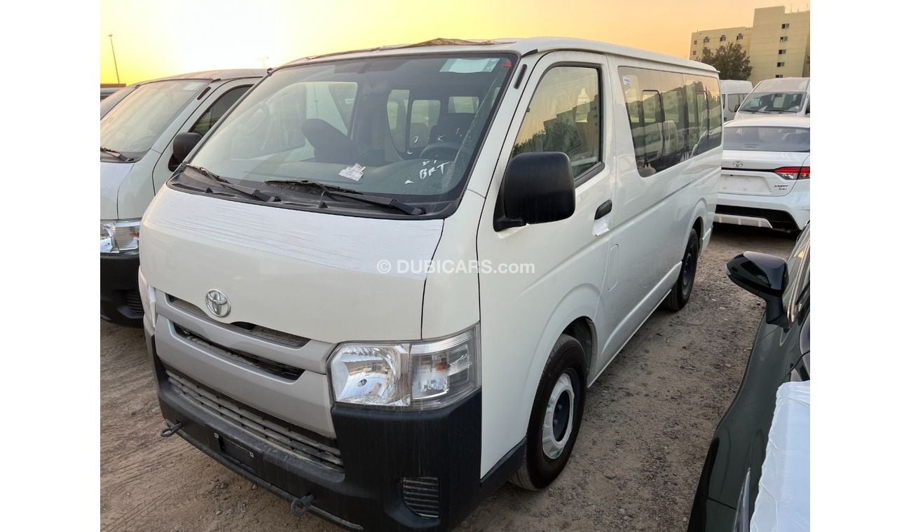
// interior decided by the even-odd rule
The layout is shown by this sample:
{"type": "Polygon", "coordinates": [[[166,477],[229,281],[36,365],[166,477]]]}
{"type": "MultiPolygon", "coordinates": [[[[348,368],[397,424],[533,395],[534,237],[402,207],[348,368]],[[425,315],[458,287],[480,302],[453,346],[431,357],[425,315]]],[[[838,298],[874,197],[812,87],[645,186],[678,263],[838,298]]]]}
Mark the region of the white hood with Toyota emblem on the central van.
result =
{"type": "Polygon", "coordinates": [[[215,321],[329,343],[411,340],[421,337],[426,274],[398,266],[432,259],[442,231],[443,220],[326,215],[162,186],[139,254],[150,286],[215,321]],[[206,308],[216,288],[227,316],[206,308]]]}

